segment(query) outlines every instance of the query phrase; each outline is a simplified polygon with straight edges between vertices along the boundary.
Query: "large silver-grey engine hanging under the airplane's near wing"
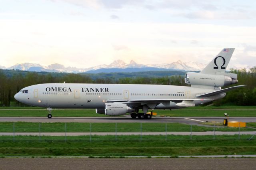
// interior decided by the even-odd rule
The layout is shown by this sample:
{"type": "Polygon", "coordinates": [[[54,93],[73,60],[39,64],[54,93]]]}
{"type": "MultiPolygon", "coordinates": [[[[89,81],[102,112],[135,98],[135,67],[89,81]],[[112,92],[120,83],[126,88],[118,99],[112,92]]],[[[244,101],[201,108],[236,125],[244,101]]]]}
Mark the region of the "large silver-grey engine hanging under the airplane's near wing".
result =
{"type": "Polygon", "coordinates": [[[128,107],[124,103],[106,103],[105,104],[105,115],[124,115],[129,112],[133,112],[134,109],[128,107]]]}

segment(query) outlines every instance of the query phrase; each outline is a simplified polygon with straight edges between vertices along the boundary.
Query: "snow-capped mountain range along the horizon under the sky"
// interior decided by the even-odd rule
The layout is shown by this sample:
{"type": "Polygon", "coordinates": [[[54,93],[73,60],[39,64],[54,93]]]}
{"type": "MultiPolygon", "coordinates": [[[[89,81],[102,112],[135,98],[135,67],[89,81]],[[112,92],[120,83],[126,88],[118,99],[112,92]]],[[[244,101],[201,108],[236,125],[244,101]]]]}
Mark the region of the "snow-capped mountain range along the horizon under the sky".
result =
{"type": "MultiPolygon", "coordinates": [[[[125,63],[122,60],[115,60],[114,62],[110,63],[109,65],[103,64],[103,65],[97,65],[90,68],[76,68],[76,67],[65,67],[61,64],[51,64],[48,66],[42,66],[40,64],[33,64],[33,63],[22,63],[22,64],[16,64],[12,67],[2,67],[2,69],[19,69],[19,70],[26,70],[26,71],[46,71],[46,72],[65,72],[65,73],[82,73],[86,71],[94,71],[98,69],[127,69],[127,68],[136,68],[136,71],[141,70],[156,70],[158,69],[171,69],[171,70],[186,70],[186,71],[200,71],[202,70],[206,65],[201,63],[196,63],[194,61],[183,63],[182,61],[176,61],[173,63],[164,63],[164,64],[138,64],[135,61],[131,60],[130,63],[125,63]],[[143,68],[143,69],[142,69],[143,68]],[[145,69],[146,68],[146,69],[145,69]],[[152,68],[152,69],[150,69],[152,68]],[[154,68],[154,69],[153,69],[154,68]]],[[[249,68],[250,66],[248,66],[249,68]]],[[[1,66],[0,66],[1,68],[1,66]]],[[[233,67],[234,68],[234,67],[233,67]]],[[[247,67],[246,67],[247,68],[247,67]]],[[[239,68],[236,68],[239,69],[239,68]]],[[[131,70],[131,69],[129,69],[131,70]]]]}

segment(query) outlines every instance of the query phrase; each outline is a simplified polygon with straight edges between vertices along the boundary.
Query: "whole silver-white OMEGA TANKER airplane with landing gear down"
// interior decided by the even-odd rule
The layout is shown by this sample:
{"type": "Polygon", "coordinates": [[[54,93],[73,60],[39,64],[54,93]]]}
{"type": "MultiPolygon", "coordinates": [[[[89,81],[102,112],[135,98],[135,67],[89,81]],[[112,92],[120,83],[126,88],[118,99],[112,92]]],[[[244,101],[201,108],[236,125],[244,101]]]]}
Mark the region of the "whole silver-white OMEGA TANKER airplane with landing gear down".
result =
{"type": "Polygon", "coordinates": [[[173,85],[47,83],[23,88],[14,98],[27,105],[52,108],[96,109],[105,115],[124,115],[151,119],[148,109],[194,107],[221,99],[238,85],[237,75],[226,73],[234,48],[224,48],[200,72],[188,72],[185,82],[191,87],[173,85]],[[139,113],[142,109],[143,113],[139,113]]]}

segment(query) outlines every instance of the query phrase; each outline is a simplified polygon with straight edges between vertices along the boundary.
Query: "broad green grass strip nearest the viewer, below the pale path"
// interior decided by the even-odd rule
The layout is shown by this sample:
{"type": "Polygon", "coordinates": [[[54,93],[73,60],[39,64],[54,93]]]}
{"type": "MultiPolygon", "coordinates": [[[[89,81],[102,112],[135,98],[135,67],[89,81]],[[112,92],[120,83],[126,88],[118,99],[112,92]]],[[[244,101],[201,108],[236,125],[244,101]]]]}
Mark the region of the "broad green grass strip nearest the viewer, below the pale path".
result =
{"type": "Polygon", "coordinates": [[[20,142],[10,142],[12,136],[3,136],[0,142],[0,156],[152,156],[152,155],[230,155],[256,154],[256,140],[251,135],[216,136],[44,136],[47,142],[38,142],[38,136],[16,136],[20,142]],[[36,138],[36,140],[34,139],[36,138]],[[133,140],[131,140],[133,139],[133,140]],[[31,142],[29,142],[31,141],[31,142]]]}

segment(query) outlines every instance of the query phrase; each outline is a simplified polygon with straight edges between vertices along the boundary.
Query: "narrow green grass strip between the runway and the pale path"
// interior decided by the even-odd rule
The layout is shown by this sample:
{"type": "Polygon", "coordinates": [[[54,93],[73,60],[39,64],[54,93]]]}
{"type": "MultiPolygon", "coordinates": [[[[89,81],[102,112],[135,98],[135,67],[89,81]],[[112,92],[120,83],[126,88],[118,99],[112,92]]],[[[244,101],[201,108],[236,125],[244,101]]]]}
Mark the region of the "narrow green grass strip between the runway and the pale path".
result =
{"type": "MultiPolygon", "coordinates": [[[[12,122],[0,122],[0,132],[13,132],[12,122]]],[[[91,123],[92,132],[140,132],[140,123],[91,123]]],[[[256,123],[250,123],[256,127],[256,123]]],[[[16,122],[15,132],[65,132],[65,123],[16,122]]],[[[142,123],[142,132],[190,132],[190,125],[181,123],[142,123]],[[167,127],[167,129],[165,129],[167,127]]],[[[192,125],[192,131],[213,131],[214,127],[192,125]]],[[[238,131],[235,127],[216,127],[216,131],[238,131]]],[[[240,128],[240,131],[255,131],[255,128],[240,128]]],[[[66,132],[90,132],[90,123],[66,123],[66,132]]]]}

